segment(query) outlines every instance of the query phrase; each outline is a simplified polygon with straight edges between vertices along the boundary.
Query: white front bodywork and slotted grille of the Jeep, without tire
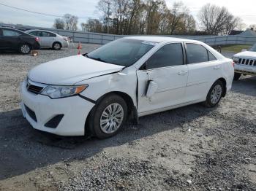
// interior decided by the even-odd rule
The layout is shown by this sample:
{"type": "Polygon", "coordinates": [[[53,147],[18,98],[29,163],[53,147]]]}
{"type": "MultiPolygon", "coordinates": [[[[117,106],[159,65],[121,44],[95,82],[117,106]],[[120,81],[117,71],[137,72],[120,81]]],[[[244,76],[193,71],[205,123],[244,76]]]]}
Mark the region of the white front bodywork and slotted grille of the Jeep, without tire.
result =
{"type": "Polygon", "coordinates": [[[256,75],[256,52],[239,52],[238,54],[233,55],[233,58],[235,57],[238,58],[238,63],[235,64],[236,72],[241,74],[256,75]]]}

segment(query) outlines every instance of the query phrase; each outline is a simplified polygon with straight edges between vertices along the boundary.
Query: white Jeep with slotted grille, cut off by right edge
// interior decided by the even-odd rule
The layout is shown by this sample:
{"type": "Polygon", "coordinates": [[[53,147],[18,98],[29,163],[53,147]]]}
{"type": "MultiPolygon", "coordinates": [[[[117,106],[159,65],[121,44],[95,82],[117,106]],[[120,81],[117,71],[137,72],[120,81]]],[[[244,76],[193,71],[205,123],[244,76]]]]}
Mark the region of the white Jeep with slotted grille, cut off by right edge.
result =
{"type": "Polygon", "coordinates": [[[234,80],[238,80],[241,74],[256,75],[256,44],[248,51],[240,52],[233,55],[235,63],[234,80]]]}

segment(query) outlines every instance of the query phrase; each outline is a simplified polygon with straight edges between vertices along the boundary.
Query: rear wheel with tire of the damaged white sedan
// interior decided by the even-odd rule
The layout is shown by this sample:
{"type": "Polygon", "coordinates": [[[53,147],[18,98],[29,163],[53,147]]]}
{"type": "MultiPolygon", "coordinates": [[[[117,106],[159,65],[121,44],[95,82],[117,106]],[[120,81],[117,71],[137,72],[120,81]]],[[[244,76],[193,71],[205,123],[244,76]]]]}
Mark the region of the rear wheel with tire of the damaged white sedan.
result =
{"type": "Polygon", "coordinates": [[[219,101],[222,98],[223,90],[224,87],[221,81],[217,80],[214,82],[214,85],[211,86],[211,89],[207,94],[205,105],[207,107],[214,107],[219,104],[219,101]]]}

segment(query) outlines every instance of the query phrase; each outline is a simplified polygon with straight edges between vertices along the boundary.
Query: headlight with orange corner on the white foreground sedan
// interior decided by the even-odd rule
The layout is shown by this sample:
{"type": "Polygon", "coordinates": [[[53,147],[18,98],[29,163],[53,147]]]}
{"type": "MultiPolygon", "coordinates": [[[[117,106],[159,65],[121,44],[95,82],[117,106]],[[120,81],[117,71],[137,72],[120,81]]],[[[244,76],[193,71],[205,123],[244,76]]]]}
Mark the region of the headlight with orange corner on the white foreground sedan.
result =
{"type": "Polygon", "coordinates": [[[50,98],[65,98],[71,95],[76,95],[78,93],[86,90],[88,85],[80,86],[59,86],[59,85],[48,85],[42,90],[40,94],[48,95],[50,98]]]}

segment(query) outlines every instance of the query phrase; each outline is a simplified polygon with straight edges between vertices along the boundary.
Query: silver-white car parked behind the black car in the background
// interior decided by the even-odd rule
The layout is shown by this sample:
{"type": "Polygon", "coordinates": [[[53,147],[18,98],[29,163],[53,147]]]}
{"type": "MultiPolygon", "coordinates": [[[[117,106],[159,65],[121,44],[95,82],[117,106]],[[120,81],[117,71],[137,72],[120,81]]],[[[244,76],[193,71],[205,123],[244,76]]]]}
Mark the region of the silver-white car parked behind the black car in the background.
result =
{"type": "Polygon", "coordinates": [[[53,50],[61,50],[61,47],[69,47],[67,37],[55,34],[50,31],[29,30],[26,33],[38,36],[41,48],[52,48],[53,50]]]}

